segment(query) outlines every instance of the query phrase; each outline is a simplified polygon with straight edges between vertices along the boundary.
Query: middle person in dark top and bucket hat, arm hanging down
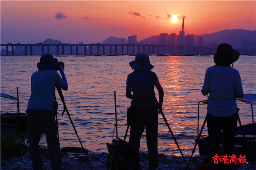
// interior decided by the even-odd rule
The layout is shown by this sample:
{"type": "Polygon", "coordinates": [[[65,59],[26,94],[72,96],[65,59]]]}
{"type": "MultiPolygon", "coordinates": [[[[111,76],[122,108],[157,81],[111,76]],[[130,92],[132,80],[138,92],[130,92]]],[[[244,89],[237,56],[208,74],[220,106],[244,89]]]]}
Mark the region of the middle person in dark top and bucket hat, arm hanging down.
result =
{"type": "MultiPolygon", "coordinates": [[[[132,99],[134,108],[134,123],[131,125],[129,142],[133,143],[140,151],[140,138],[146,129],[148,146],[148,170],[155,170],[158,166],[157,129],[158,113],[163,105],[163,88],[151,69],[154,67],[147,54],[140,53],[131,61],[130,66],[134,71],[128,74],[126,81],[126,97],[132,99]],[[154,87],[159,94],[159,103],[155,97],[154,87]],[[133,94],[131,94],[133,92],[133,94]]],[[[139,169],[139,167],[137,167],[139,169]]]]}

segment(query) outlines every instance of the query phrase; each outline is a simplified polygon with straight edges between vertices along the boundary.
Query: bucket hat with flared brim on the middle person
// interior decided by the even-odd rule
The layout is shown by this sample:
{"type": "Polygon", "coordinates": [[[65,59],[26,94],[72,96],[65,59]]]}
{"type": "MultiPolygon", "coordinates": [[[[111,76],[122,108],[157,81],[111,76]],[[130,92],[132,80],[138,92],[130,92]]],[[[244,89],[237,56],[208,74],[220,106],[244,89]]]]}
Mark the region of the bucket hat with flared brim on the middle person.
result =
{"type": "Polygon", "coordinates": [[[138,71],[149,71],[154,68],[150,64],[149,57],[145,53],[136,54],[134,61],[129,62],[130,66],[134,70],[138,71]]]}

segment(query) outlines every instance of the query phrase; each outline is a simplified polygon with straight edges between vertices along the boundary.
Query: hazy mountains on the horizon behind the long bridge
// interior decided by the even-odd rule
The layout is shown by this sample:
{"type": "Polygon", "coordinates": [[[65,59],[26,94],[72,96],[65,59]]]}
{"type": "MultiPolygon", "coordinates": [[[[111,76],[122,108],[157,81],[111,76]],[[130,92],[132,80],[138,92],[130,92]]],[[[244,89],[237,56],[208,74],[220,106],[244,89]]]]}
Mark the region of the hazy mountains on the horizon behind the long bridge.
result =
{"type": "MultiPolygon", "coordinates": [[[[221,43],[229,43],[235,49],[256,49],[256,30],[232,29],[218,31],[212,34],[194,35],[194,46],[198,46],[198,37],[203,37],[203,45],[208,47],[217,47],[221,43]]],[[[69,44],[58,40],[47,39],[42,44],[69,44]]],[[[119,37],[109,37],[101,44],[127,44],[128,40],[119,37]]],[[[154,35],[143,40],[142,44],[160,44],[159,35],[154,35]]]]}

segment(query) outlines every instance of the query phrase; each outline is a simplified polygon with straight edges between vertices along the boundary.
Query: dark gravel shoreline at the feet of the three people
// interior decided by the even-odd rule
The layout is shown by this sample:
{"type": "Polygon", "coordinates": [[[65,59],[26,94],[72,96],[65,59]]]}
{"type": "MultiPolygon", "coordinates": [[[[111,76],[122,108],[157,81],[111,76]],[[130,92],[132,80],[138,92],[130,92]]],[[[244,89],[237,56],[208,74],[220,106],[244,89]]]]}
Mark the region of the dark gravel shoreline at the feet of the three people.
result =
{"type": "MultiPolygon", "coordinates": [[[[106,162],[108,159],[108,153],[94,153],[89,151],[89,162],[79,161],[80,156],[85,156],[83,153],[67,153],[62,158],[62,170],[107,170],[106,162]]],[[[140,152],[140,164],[142,170],[147,170],[148,167],[148,153],[140,152]]],[[[17,170],[21,157],[15,157],[12,159],[1,160],[1,170],[17,170]]],[[[186,169],[186,163],[182,156],[167,156],[159,154],[158,170],[184,170],[186,169]]],[[[186,161],[189,160],[189,156],[185,156],[186,161]]],[[[44,163],[44,170],[51,170],[51,164],[48,156],[42,156],[44,163]]],[[[199,165],[204,162],[205,156],[193,156],[188,170],[197,170],[199,165]]],[[[256,163],[254,162],[256,167],[256,163]]],[[[19,170],[32,170],[32,161],[29,154],[26,154],[20,163],[19,170]]],[[[241,164],[236,170],[253,170],[252,164],[241,164]]]]}

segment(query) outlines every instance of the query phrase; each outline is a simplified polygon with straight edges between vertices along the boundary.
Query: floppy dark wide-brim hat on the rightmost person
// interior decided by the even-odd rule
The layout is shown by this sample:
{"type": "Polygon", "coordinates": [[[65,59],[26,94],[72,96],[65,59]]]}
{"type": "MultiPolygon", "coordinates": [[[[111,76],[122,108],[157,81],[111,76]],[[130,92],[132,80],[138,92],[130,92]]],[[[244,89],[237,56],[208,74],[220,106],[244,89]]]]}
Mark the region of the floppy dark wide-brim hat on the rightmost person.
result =
{"type": "Polygon", "coordinates": [[[218,45],[217,51],[214,54],[215,64],[232,64],[239,59],[239,52],[232,48],[230,44],[223,43],[218,45]]]}

